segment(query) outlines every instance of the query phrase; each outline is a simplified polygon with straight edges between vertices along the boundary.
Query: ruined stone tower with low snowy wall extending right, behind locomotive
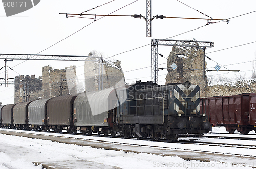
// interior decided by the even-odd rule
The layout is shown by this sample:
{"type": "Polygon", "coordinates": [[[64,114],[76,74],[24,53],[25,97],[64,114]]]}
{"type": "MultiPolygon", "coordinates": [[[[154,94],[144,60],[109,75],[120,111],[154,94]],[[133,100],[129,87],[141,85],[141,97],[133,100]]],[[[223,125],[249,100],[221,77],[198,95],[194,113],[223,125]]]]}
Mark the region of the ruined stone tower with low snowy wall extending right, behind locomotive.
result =
{"type": "MultiPolygon", "coordinates": [[[[206,68],[205,62],[205,68],[206,68]]],[[[189,81],[200,86],[200,97],[230,96],[242,93],[256,93],[256,79],[222,82],[209,85],[207,76],[203,79],[203,51],[194,47],[173,46],[167,61],[166,84],[189,81]],[[175,63],[173,70],[170,65],[175,63]]]]}

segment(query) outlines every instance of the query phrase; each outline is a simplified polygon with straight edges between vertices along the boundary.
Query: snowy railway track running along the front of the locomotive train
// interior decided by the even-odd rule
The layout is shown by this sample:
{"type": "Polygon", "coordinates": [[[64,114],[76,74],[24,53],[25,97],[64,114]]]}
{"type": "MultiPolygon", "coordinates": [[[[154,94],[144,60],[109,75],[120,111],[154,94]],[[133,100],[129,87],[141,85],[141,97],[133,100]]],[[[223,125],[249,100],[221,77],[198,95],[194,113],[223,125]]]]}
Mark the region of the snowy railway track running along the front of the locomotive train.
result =
{"type": "MultiPolygon", "coordinates": [[[[1,130],[0,130],[1,131],[1,130]]],[[[8,131],[10,132],[10,131],[8,131]]],[[[0,132],[1,133],[1,132],[0,132]]],[[[12,135],[15,135],[15,133],[24,133],[22,131],[11,131],[13,133],[12,135]]],[[[185,141],[181,140],[179,142],[175,143],[167,143],[165,140],[160,140],[160,142],[155,142],[152,140],[136,140],[136,138],[131,139],[120,139],[120,138],[111,138],[111,137],[104,137],[103,135],[100,137],[96,137],[96,135],[93,136],[83,136],[83,135],[71,135],[71,134],[56,134],[56,133],[45,133],[45,132],[38,132],[38,133],[24,133],[29,135],[44,135],[47,137],[51,137],[50,140],[62,140],[62,139],[74,139],[79,140],[79,143],[82,142],[96,142],[98,144],[102,145],[109,145],[109,144],[116,144],[116,145],[122,145],[125,149],[126,146],[135,146],[135,147],[144,147],[144,148],[156,148],[161,149],[164,151],[170,151],[170,150],[176,150],[176,151],[193,151],[198,153],[217,153],[222,155],[235,155],[235,156],[244,156],[244,157],[252,157],[256,158],[256,154],[241,154],[243,150],[249,150],[249,151],[255,151],[256,146],[252,145],[244,145],[244,144],[227,144],[227,143],[215,143],[215,142],[201,142],[200,140],[191,142],[191,141],[185,141]],[[84,138],[86,137],[86,138],[84,138]],[[160,144],[159,144],[160,143],[160,144]],[[225,149],[230,149],[230,151],[222,152],[220,151],[223,147],[225,149]],[[238,149],[234,150],[234,149],[238,149]],[[231,150],[232,149],[232,150],[231,150]],[[238,153],[239,152],[239,153],[238,153]]],[[[60,141],[62,142],[62,141],[60,141]]],[[[65,143],[65,142],[62,142],[65,143]]],[[[78,144],[79,145],[79,144],[78,144]]],[[[90,146],[90,145],[89,145],[90,146]]],[[[102,148],[102,147],[95,147],[95,148],[102,148]]],[[[103,147],[105,148],[105,147],[103,147]]],[[[129,151],[127,151],[129,152],[129,151]]],[[[136,151],[133,151],[136,152],[136,151]]],[[[140,153],[140,152],[137,152],[140,153]]],[[[161,154],[161,153],[159,153],[161,154]]],[[[159,155],[158,154],[158,155],[159,155]]],[[[163,153],[163,156],[165,153],[163,153]]]]}

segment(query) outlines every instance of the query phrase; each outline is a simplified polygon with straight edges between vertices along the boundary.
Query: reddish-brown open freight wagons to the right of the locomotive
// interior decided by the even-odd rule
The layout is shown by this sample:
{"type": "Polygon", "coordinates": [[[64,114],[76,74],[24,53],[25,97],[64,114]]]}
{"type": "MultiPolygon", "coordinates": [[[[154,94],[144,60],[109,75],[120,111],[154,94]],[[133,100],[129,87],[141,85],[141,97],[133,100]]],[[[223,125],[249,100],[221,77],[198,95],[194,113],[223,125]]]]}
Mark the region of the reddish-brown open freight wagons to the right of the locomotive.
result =
{"type": "Polygon", "coordinates": [[[200,111],[209,117],[213,126],[225,126],[233,134],[256,132],[256,94],[201,98],[200,111]]]}

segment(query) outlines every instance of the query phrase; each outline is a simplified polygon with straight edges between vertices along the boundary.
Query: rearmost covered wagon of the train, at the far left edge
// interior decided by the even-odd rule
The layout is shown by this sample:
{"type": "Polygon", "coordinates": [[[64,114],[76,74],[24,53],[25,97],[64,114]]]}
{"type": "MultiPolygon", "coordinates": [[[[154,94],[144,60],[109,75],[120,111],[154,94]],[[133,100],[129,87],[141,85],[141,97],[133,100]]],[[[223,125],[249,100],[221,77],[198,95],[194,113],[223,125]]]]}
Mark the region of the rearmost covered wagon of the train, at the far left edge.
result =
{"type": "Polygon", "coordinates": [[[2,126],[4,127],[12,127],[13,121],[13,107],[15,104],[8,104],[2,107],[1,116],[2,116],[2,126]]]}

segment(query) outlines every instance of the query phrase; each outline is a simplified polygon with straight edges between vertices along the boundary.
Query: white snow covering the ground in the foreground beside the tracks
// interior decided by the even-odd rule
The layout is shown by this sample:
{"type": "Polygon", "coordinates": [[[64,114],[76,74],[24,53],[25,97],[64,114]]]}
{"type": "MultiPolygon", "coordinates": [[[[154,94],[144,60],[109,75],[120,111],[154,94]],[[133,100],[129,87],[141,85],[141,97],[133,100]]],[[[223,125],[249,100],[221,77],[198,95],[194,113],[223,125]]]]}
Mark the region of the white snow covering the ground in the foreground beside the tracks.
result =
{"type": "MultiPolygon", "coordinates": [[[[2,130],[2,129],[1,129],[2,130]]],[[[63,134],[67,136],[66,134],[63,134]]],[[[71,135],[77,136],[77,135],[71,135]]],[[[86,136],[84,136],[86,137],[86,136]]],[[[94,137],[95,138],[95,137],[94,137]]],[[[101,137],[100,137],[101,138],[101,137]]],[[[118,139],[118,138],[117,138],[118,139]]],[[[121,139],[126,140],[126,139],[121,139]]],[[[138,141],[129,139],[129,142],[138,141]]],[[[155,144],[164,144],[153,142],[155,144]]],[[[178,144],[171,144],[176,145],[178,144]]],[[[184,145],[183,145],[184,146],[184,145]]],[[[207,146],[207,145],[206,145],[207,146]]],[[[209,148],[210,149],[210,148],[209,148]]],[[[211,148],[212,149],[212,148],[211,148]]],[[[222,148],[223,149],[223,148],[222,148]]],[[[189,153],[189,152],[188,152],[189,153]]],[[[0,169],[42,168],[33,162],[63,163],[67,168],[241,168],[231,162],[186,161],[180,157],[96,149],[0,134],[0,169]]],[[[252,165],[251,165],[252,166],[252,165]]],[[[256,166],[256,161],[255,165],[256,166]]],[[[251,168],[251,167],[243,167],[251,168]]]]}

